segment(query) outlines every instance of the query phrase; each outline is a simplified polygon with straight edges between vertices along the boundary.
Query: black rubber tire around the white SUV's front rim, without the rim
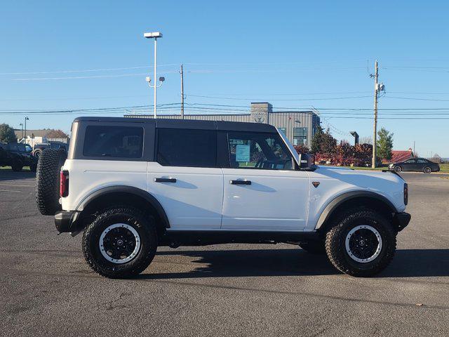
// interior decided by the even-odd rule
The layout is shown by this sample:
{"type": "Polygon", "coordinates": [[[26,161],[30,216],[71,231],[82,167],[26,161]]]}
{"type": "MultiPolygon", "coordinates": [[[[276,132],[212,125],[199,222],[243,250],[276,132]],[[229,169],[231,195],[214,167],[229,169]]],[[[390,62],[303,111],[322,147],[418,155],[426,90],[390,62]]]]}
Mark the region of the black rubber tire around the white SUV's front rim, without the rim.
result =
{"type": "Polygon", "coordinates": [[[326,253],[337,270],[355,277],[369,277],[384,270],[396,251],[396,232],[382,214],[358,207],[351,209],[335,220],[335,225],[326,234],[326,253]],[[349,257],[345,240],[349,231],[357,225],[369,225],[380,233],[382,249],[379,256],[368,263],[360,263],[349,257]]]}

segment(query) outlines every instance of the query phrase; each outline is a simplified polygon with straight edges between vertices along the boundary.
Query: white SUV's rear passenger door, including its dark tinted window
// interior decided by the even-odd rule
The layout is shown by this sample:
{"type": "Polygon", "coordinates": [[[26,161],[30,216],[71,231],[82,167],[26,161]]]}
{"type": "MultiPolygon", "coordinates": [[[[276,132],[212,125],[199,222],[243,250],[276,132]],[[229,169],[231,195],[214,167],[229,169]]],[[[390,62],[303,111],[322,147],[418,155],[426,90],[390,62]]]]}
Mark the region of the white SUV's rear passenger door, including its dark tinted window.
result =
{"type": "Polygon", "coordinates": [[[172,230],[218,229],[223,173],[217,168],[217,131],[157,128],[148,192],[166,211],[172,230]]]}

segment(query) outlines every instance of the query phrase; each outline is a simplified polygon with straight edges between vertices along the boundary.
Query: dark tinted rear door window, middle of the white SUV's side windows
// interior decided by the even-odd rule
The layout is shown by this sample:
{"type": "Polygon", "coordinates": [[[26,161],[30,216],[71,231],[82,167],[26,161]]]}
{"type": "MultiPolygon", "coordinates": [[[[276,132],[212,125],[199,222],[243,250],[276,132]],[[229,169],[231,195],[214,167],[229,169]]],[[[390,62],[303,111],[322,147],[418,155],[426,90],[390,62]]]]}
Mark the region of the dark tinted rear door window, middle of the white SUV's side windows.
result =
{"type": "Polygon", "coordinates": [[[163,166],[215,167],[217,133],[212,130],[159,128],[156,158],[163,166]]]}

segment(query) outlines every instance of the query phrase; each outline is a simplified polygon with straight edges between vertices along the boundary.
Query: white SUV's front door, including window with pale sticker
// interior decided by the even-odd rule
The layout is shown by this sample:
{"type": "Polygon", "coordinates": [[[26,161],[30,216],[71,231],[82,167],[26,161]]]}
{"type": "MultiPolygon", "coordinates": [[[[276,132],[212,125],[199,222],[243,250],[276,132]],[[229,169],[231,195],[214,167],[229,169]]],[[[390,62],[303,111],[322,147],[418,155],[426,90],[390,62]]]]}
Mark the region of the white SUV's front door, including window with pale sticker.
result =
{"type": "Polygon", "coordinates": [[[309,176],[277,133],[227,132],[222,229],[303,230],[309,176]]]}

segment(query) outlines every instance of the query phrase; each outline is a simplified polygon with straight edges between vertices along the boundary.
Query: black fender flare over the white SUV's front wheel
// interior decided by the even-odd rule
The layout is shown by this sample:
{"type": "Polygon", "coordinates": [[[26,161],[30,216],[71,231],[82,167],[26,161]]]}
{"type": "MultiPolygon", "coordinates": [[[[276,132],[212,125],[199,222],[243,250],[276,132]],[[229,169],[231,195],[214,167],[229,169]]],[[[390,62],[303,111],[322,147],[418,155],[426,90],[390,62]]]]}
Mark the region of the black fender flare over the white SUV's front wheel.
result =
{"type": "Polygon", "coordinates": [[[346,192],[335,197],[326,205],[316,223],[315,230],[326,232],[330,226],[331,219],[342,213],[342,211],[356,206],[366,206],[368,209],[380,211],[389,218],[391,218],[393,213],[397,212],[394,204],[381,194],[370,191],[346,192]]]}

